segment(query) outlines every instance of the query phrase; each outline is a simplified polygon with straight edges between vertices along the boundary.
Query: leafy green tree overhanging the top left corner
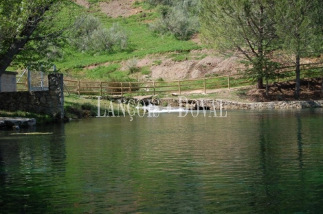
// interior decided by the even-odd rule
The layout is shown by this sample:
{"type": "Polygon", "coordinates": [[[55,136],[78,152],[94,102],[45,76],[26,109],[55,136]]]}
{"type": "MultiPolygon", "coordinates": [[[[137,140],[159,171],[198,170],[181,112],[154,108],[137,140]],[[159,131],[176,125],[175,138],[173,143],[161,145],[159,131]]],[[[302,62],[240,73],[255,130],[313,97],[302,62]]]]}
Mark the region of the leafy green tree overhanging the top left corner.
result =
{"type": "Polygon", "coordinates": [[[21,62],[41,59],[50,47],[62,44],[67,25],[54,27],[54,19],[69,3],[69,0],[0,1],[0,75],[18,56],[21,62]]]}

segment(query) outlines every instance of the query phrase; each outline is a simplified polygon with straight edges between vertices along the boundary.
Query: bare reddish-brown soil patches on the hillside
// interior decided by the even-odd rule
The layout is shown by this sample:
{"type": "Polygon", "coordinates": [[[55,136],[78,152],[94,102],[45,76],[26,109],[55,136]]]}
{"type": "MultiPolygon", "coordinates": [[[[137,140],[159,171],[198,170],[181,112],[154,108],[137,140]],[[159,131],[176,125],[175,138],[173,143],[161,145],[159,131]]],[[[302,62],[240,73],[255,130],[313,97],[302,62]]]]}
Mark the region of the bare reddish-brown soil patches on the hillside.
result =
{"type": "MultiPolygon", "coordinates": [[[[86,0],[75,0],[76,3],[89,8],[90,4],[86,0]]],[[[143,12],[142,8],[133,8],[135,0],[111,0],[100,3],[100,10],[108,16],[131,16],[133,14],[143,12]]],[[[200,43],[199,37],[195,36],[192,41],[200,43]]],[[[108,63],[109,64],[109,63],[108,63]]],[[[122,63],[122,70],[126,71],[126,62],[122,63]]],[[[101,64],[90,66],[88,69],[93,69],[101,64]]],[[[205,75],[228,75],[236,73],[238,69],[243,68],[243,65],[238,63],[235,57],[223,58],[216,56],[214,51],[197,50],[192,51],[188,59],[183,61],[175,61],[167,55],[146,56],[146,58],[138,60],[138,67],[150,67],[151,79],[162,78],[163,80],[182,80],[190,78],[202,78],[205,75]],[[201,55],[206,57],[201,58],[201,55]],[[156,64],[160,61],[160,64],[156,64]]],[[[143,76],[140,77],[144,79],[143,76]]]]}

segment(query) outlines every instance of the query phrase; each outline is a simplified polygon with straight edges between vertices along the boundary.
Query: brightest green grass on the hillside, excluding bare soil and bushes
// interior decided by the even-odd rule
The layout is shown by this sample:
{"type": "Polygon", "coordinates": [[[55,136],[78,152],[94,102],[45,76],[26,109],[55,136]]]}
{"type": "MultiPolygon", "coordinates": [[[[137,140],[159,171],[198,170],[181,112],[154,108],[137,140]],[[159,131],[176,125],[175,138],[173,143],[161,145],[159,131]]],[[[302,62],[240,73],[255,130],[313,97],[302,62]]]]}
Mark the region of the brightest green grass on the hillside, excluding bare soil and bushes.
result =
{"type": "MultiPolygon", "coordinates": [[[[90,3],[97,2],[96,0],[90,1],[90,3]]],[[[78,12],[84,11],[83,8],[77,6],[75,10],[78,10],[78,12]]],[[[67,15],[66,12],[62,13],[67,15]]],[[[100,65],[105,62],[113,62],[116,64],[120,61],[129,60],[129,58],[144,58],[149,54],[173,51],[181,52],[181,54],[174,56],[175,60],[183,60],[188,51],[201,49],[199,45],[192,41],[181,41],[177,40],[174,36],[157,36],[153,34],[148,29],[147,22],[154,21],[157,18],[158,14],[155,12],[146,12],[146,17],[143,17],[142,14],[136,14],[128,18],[111,18],[101,12],[93,12],[92,14],[100,19],[104,27],[109,28],[113,23],[119,23],[124,27],[129,34],[129,49],[113,53],[96,53],[93,56],[93,54],[82,53],[69,47],[65,49],[63,59],[54,62],[56,67],[60,69],[60,72],[71,73],[73,75],[75,72],[85,71],[86,67],[93,64],[100,65]]],[[[89,74],[88,78],[98,79],[102,76],[102,72],[95,72],[98,75],[89,74]]]]}

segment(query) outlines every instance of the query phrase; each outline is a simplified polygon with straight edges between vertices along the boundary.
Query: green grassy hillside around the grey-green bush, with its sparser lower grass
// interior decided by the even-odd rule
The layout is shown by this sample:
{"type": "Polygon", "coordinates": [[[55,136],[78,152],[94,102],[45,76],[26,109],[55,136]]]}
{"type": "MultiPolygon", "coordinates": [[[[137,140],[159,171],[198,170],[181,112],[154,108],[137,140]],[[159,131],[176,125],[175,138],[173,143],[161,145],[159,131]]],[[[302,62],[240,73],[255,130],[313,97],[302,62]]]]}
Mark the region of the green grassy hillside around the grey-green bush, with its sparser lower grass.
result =
{"type": "MultiPolygon", "coordinates": [[[[174,36],[155,35],[148,29],[148,23],[157,19],[159,14],[153,8],[148,8],[144,3],[137,1],[131,5],[133,8],[140,7],[140,12],[129,17],[119,16],[112,18],[101,12],[100,2],[103,0],[90,0],[90,8],[80,5],[75,6],[75,14],[91,13],[100,19],[104,27],[109,29],[113,23],[119,23],[129,36],[129,49],[113,53],[82,53],[69,47],[64,50],[63,58],[54,62],[56,67],[67,75],[79,79],[107,80],[109,78],[124,78],[127,72],[121,71],[121,64],[126,60],[144,58],[151,54],[167,54],[170,52],[186,52],[192,49],[201,49],[200,45],[190,40],[177,40],[174,36]],[[91,69],[88,69],[91,67],[91,69]]],[[[69,11],[63,12],[67,16],[69,11]]],[[[171,57],[171,56],[170,56],[171,57]]],[[[148,73],[149,68],[144,68],[148,73]]]]}

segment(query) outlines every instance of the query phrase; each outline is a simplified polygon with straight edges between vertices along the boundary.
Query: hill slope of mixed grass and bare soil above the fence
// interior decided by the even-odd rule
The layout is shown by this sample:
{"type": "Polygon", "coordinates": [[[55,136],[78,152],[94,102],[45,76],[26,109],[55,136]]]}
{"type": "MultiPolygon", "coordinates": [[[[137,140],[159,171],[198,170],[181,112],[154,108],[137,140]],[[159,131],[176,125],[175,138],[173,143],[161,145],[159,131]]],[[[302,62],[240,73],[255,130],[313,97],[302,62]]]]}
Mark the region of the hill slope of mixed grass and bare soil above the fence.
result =
{"type": "MultiPolygon", "coordinates": [[[[93,0],[95,1],[95,0],[93,0]]],[[[146,72],[140,73],[137,78],[141,80],[182,80],[187,78],[202,78],[212,75],[224,75],[236,73],[243,65],[238,63],[238,59],[223,58],[217,56],[214,51],[203,49],[196,35],[190,41],[177,41],[174,38],[149,38],[153,36],[146,23],[153,22],[156,16],[151,9],[144,10],[142,5],[135,0],[113,0],[100,2],[75,0],[78,5],[84,7],[87,12],[92,12],[100,17],[102,23],[109,25],[112,22],[121,22],[124,27],[137,25],[129,30],[132,34],[131,42],[135,44],[135,50],[129,54],[128,58],[115,53],[111,56],[96,56],[91,60],[83,59],[83,56],[76,56],[68,60],[73,61],[73,65],[63,62],[61,67],[74,77],[87,78],[88,73],[96,72],[100,69],[104,73],[104,67],[111,64],[120,64],[118,76],[126,76],[129,71],[129,59],[136,58],[137,67],[144,68],[146,72]],[[151,16],[151,19],[148,17],[151,16]],[[143,18],[144,19],[140,19],[143,18]],[[131,20],[137,19],[131,23],[131,20]],[[141,29],[140,29],[141,28],[141,29]],[[133,32],[134,29],[136,32],[133,32]],[[139,30],[140,29],[140,30],[139,30]],[[135,34],[135,35],[134,35],[135,34]],[[142,41],[138,41],[142,40],[142,41]],[[170,41],[171,40],[171,41],[170,41]],[[146,43],[146,47],[139,42],[146,43]],[[147,43],[152,43],[149,47],[147,43]],[[160,50],[159,50],[160,49],[160,50]],[[146,51],[146,53],[144,53],[146,51]],[[78,60],[80,62],[78,62],[78,60]],[[123,73],[123,74],[120,74],[123,73]],[[146,77],[146,78],[144,78],[146,77]]],[[[140,1],[141,2],[141,1],[140,1]]],[[[157,37],[157,36],[154,36],[157,37]]],[[[67,60],[67,61],[68,61],[67,60]]],[[[59,62],[58,62],[59,64],[59,62]]],[[[113,75],[113,73],[110,73],[113,75]]],[[[96,75],[94,75],[95,77],[96,75]]]]}

